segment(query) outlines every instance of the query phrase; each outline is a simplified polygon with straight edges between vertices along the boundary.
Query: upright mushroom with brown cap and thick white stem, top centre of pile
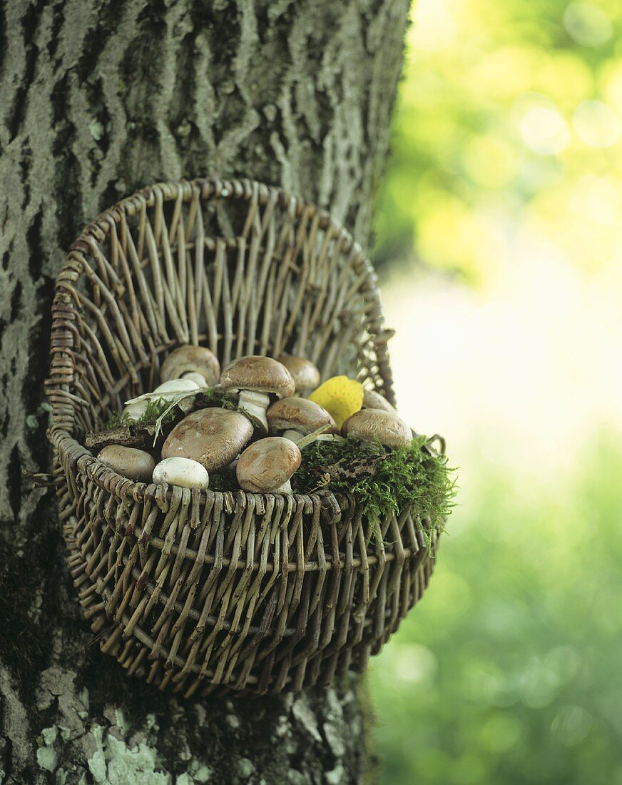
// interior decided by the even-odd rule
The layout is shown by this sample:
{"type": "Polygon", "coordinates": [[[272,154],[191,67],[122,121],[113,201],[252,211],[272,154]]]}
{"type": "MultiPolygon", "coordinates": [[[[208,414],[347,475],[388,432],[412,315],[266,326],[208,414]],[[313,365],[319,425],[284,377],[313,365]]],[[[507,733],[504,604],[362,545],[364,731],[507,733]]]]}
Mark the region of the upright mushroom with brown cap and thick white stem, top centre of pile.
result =
{"type": "Polygon", "coordinates": [[[220,374],[224,392],[240,393],[238,408],[246,412],[258,427],[267,433],[266,409],[270,394],[287,398],[295,385],[287,368],[271,357],[250,355],[238,357],[220,374]]]}

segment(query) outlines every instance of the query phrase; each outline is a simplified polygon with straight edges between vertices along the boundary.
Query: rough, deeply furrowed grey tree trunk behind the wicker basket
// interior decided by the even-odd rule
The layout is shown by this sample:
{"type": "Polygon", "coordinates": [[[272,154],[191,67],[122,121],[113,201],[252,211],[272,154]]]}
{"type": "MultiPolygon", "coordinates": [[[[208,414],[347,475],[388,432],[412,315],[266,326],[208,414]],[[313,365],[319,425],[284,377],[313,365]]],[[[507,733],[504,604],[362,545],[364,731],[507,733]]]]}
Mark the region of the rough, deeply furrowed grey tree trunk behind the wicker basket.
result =
{"type": "Polygon", "coordinates": [[[49,308],[63,250],[136,187],[282,184],[365,243],[407,0],[0,0],[0,782],[358,783],[357,681],[203,705],[100,655],[64,567],[49,468],[49,308]]]}

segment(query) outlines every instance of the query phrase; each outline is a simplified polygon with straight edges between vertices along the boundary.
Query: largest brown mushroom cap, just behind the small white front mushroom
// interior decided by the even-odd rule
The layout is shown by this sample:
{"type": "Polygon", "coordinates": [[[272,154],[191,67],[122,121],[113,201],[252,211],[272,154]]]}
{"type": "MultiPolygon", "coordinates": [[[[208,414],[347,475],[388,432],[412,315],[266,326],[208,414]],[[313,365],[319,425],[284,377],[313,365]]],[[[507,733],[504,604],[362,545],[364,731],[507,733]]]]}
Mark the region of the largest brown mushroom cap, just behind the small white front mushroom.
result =
{"type": "Polygon", "coordinates": [[[167,436],[162,458],[192,458],[208,471],[228,466],[253,436],[249,418],[216,407],[188,414],[167,436]]]}

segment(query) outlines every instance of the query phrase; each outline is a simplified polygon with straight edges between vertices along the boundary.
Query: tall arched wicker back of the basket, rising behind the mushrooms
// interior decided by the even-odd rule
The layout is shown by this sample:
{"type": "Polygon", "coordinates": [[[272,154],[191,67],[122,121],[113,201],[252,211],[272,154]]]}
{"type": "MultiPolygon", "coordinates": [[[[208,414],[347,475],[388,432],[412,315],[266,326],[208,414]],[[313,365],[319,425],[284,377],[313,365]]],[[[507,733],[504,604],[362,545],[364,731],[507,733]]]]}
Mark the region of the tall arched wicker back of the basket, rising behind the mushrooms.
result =
{"type": "Polygon", "coordinates": [[[186,343],[223,365],[300,354],[322,378],[355,375],[393,400],[389,335],[369,262],[322,210],[252,181],[161,184],[72,246],[55,303],[55,420],[78,440],[100,428],[186,343]]]}

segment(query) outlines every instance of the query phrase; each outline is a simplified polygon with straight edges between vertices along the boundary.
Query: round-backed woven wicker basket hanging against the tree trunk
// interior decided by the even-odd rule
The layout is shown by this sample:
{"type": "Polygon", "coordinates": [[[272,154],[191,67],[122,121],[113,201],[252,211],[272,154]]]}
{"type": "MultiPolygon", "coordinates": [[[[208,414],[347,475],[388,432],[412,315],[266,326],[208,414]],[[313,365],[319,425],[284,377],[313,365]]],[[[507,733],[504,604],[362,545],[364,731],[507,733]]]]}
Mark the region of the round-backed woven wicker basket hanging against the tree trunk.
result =
{"type": "Polygon", "coordinates": [[[392,401],[390,336],[358,244],[277,188],[158,184],[85,229],[56,283],[49,436],[71,575],[102,651],[185,696],[365,668],[431,575],[409,510],[372,538],[344,495],[134,483],[80,443],[185,343],[221,363],[302,354],[392,401]]]}

